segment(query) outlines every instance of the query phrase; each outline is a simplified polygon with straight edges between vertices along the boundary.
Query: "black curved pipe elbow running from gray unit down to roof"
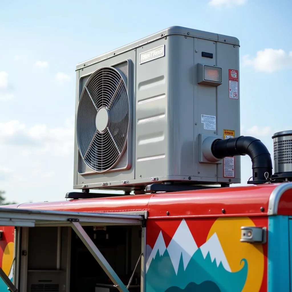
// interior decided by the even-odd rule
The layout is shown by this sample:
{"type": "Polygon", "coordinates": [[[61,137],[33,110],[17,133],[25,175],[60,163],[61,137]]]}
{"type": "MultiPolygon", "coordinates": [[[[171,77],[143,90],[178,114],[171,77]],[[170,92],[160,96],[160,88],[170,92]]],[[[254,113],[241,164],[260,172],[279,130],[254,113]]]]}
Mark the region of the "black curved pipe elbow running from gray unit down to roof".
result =
{"type": "Polygon", "coordinates": [[[272,159],[267,147],[259,139],[240,136],[225,140],[215,140],[211,147],[218,159],[229,156],[248,155],[251,158],[253,180],[267,180],[272,175],[272,159]],[[268,175],[266,174],[268,173],[268,175]]]}

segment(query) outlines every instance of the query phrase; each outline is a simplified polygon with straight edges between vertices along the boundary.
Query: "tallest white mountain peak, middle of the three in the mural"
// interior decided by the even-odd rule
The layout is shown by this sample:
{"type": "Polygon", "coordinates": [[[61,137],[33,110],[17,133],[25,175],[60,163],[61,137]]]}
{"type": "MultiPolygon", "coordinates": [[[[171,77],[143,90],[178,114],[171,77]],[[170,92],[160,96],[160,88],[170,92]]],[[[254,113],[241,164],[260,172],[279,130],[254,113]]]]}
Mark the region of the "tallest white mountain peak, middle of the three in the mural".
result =
{"type": "Polygon", "coordinates": [[[176,274],[178,272],[181,254],[183,255],[184,269],[186,269],[190,259],[197,249],[198,246],[196,241],[194,240],[187,223],[183,219],[167,247],[176,274]]]}

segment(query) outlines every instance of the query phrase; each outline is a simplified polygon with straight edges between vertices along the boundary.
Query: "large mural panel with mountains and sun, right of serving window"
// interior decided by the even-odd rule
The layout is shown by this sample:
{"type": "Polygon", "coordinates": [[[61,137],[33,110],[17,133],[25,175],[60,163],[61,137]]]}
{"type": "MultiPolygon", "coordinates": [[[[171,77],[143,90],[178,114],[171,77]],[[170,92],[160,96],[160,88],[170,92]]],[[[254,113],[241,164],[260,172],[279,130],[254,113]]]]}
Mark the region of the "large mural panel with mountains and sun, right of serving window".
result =
{"type": "Polygon", "coordinates": [[[249,218],[149,220],[146,292],[266,291],[265,248],[240,242],[241,226],[256,225],[249,218]]]}

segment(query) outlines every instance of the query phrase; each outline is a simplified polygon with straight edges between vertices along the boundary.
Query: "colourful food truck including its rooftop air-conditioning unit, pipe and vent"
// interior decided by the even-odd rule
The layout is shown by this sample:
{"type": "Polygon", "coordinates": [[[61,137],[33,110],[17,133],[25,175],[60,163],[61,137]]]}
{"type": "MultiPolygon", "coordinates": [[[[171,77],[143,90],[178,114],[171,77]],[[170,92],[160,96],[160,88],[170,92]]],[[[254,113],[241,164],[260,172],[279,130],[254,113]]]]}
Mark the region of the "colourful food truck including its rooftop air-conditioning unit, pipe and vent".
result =
{"type": "Polygon", "coordinates": [[[185,27],[78,64],[74,192],[1,206],[0,291],[291,291],[292,131],[240,135],[239,75],[185,27]]]}

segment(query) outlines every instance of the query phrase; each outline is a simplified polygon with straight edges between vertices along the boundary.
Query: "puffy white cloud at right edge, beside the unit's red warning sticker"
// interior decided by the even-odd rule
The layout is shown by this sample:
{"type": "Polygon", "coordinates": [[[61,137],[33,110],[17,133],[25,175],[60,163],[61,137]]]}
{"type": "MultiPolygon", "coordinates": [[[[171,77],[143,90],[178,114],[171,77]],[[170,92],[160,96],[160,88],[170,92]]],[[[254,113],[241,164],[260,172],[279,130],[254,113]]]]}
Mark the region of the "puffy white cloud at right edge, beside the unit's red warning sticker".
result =
{"type": "Polygon", "coordinates": [[[265,48],[263,51],[258,51],[255,58],[244,55],[243,66],[253,67],[258,71],[269,73],[289,67],[292,68],[292,51],[286,53],[282,49],[265,48]]]}

